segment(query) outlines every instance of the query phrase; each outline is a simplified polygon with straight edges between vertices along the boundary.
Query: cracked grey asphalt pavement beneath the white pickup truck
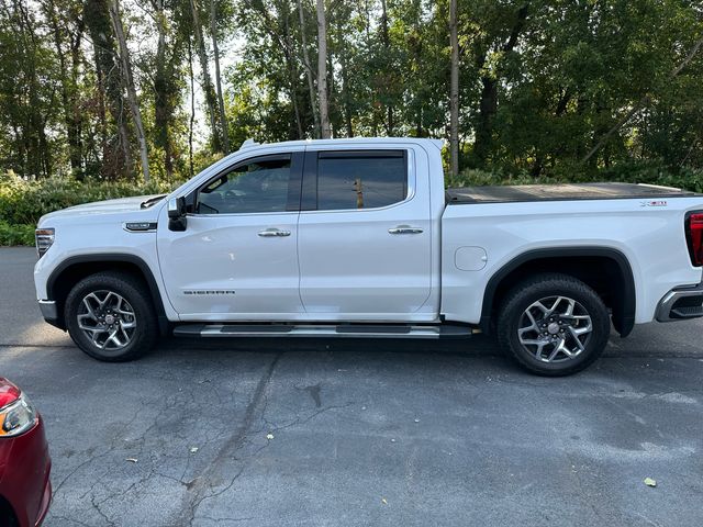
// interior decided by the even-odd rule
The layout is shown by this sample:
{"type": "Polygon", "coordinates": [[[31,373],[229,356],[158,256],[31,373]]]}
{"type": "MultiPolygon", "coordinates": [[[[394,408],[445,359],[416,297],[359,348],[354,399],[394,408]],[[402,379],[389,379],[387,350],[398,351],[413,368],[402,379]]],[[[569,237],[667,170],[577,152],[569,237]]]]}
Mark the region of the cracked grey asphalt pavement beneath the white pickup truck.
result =
{"type": "Polygon", "coordinates": [[[0,249],[0,374],[38,406],[54,526],[703,525],[703,323],[542,379],[471,341],[168,339],[105,365],[0,249]],[[645,478],[657,480],[655,489],[645,478]]]}

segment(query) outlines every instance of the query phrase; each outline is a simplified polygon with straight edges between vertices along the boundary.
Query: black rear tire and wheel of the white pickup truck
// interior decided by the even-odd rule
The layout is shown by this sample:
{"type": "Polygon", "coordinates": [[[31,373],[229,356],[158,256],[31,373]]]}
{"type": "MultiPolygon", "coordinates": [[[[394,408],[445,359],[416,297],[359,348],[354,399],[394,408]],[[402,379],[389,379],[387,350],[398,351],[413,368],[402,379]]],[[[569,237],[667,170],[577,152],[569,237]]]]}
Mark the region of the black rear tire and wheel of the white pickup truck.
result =
{"type": "Polygon", "coordinates": [[[521,367],[539,375],[559,377],[581,371],[601,356],[611,322],[605,304],[589,285],[568,274],[545,273],[510,290],[500,306],[496,329],[501,348],[521,367]],[[559,298],[562,300],[553,304],[559,298]],[[549,304],[546,307],[554,305],[555,313],[548,315],[536,305],[538,301],[549,304]]]}

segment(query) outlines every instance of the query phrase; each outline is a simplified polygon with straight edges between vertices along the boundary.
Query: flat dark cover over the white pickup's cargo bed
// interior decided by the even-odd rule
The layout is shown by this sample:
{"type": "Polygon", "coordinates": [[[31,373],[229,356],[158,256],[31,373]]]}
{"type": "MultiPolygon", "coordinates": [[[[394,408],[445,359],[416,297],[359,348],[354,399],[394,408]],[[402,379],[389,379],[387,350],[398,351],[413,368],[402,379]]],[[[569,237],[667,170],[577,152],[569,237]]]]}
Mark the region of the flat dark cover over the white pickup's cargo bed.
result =
{"type": "Polygon", "coordinates": [[[635,183],[565,183],[447,189],[448,204],[690,198],[695,192],[635,183]]]}

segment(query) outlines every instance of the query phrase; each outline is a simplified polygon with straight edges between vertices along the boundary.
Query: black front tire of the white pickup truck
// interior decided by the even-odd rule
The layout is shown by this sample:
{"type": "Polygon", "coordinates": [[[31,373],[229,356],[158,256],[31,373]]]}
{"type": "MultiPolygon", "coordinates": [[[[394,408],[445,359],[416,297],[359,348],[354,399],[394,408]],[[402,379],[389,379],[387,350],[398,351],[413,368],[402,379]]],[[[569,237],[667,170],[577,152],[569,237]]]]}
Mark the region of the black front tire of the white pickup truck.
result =
{"type": "Polygon", "coordinates": [[[99,272],[80,280],[68,293],[65,316],[66,327],[74,343],[93,359],[104,362],[134,360],[148,351],[158,336],[158,324],[147,285],[138,278],[126,272],[99,272]],[[83,304],[83,299],[90,293],[93,293],[94,296],[90,296],[88,303],[93,309],[89,309],[83,304]],[[108,300],[108,304],[112,305],[96,310],[96,304],[100,305],[99,300],[107,299],[107,293],[113,293],[108,300]],[[112,309],[113,305],[116,305],[116,296],[120,296],[124,302],[120,304],[122,306],[121,310],[112,309]],[[132,315],[126,314],[129,312],[132,315]],[[103,316],[100,317],[99,313],[102,313],[103,316]],[[98,319],[93,316],[96,314],[98,314],[98,319]],[[82,317],[83,327],[94,327],[96,330],[81,329],[79,316],[82,317]],[[100,318],[102,318],[102,322],[100,322],[100,318]],[[108,325],[108,322],[113,322],[113,325],[108,325]],[[132,324],[135,327],[124,329],[124,327],[132,324]],[[120,325],[122,325],[122,328],[120,328],[120,325]],[[113,329],[118,332],[118,337],[114,341],[108,338],[113,329]],[[99,334],[97,337],[98,344],[88,334],[93,335],[93,337],[99,334]],[[103,339],[107,345],[105,349],[100,347],[103,339]],[[123,341],[123,346],[120,347],[118,345],[119,340],[123,341]]]}

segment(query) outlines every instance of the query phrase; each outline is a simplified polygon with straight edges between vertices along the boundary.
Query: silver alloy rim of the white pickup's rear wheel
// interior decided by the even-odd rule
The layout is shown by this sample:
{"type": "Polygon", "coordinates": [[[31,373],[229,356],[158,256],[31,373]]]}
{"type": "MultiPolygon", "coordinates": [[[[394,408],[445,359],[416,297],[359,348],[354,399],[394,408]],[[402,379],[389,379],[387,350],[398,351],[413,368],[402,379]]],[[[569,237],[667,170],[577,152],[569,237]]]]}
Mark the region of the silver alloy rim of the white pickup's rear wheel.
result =
{"type": "Polygon", "coordinates": [[[568,296],[547,296],[520,317],[517,337],[527,352],[543,362],[563,362],[585,350],[593,324],[589,312],[568,296]]]}

